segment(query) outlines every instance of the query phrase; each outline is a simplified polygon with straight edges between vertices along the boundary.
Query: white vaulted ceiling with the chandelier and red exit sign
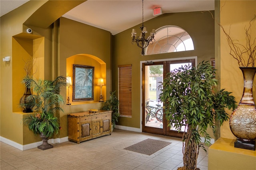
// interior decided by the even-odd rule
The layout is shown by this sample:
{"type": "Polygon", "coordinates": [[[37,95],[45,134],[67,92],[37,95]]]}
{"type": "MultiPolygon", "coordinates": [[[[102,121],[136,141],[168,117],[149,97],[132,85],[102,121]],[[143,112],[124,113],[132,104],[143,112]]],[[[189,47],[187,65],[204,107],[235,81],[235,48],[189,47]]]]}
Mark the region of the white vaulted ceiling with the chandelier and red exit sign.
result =
{"type": "MultiPolygon", "coordinates": [[[[28,0],[0,0],[1,16],[18,8],[28,0]]],[[[156,16],[155,7],[162,7],[162,14],[214,10],[214,0],[144,0],[144,22],[156,16]]],[[[118,34],[142,23],[142,0],[88,0],[63,15],[118,34]]]]}

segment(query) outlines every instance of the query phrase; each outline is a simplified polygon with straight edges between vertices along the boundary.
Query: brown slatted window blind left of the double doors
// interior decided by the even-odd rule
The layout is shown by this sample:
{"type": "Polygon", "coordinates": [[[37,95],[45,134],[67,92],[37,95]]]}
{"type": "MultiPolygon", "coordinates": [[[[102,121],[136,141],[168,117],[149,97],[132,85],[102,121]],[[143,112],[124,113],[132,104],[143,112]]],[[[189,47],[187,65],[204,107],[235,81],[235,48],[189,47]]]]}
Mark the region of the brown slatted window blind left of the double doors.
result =
{"type": "Polygon", "coordinates": [[[132,65],[118,66],[118,100],[120,116],[132,117],[132,65]]]}

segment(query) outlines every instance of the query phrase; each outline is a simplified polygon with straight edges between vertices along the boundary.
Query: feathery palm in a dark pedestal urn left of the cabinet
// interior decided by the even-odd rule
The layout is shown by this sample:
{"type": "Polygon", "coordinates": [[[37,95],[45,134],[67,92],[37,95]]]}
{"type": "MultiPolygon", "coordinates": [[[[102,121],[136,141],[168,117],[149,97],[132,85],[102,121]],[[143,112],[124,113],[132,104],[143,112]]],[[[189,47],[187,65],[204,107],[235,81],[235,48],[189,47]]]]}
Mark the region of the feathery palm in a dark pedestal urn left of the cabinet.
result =
{"type": "Polygon", "coordinates": [[[23,119],[24,125],[27,125],[34,134],[40,134],[43,144],[38,148],[45,150],[53,146],[48,144],[48,138],[54,133],[58,133],[60,125],[56,117],[57,111],[63,111],[59,106],[64,103],[60,95],[60,88],[66,86],[65,77],[57,77],[53,81],[34,80],[31,77],[24,77],[22,83],[33,90],[33,95],[26,98],[26,103],[20,104],[20,107],[29,107],[34,111],[23,119]]]}

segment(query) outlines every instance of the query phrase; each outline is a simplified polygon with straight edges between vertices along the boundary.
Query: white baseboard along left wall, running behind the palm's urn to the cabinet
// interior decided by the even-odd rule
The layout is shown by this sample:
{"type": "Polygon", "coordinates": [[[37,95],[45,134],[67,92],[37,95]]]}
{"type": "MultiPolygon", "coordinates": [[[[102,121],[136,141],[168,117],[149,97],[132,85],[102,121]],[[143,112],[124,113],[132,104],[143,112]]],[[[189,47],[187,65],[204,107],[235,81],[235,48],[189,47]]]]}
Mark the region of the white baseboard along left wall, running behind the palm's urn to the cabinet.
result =
{"type": "MultiPolygon", "coordinates": [[[[32,148],[37,148],[37,146],[40,146],[43,142],[34,142],[34,143],[30,143],[30,144],[19,144],[17,142],[14,142],[10,139],[4,138],[2,136],[0,136],[0,141],[4,142],[10,146],[13,146],[14,148],[17,148],[19,150],[28,150],[28,149],[32,149],[32,148]]],[[[49,139],[48,143],[49,144],[54,144],[54,143],[62,143],[62,142],[67,142],[68,141],[68,136],[64,137],[64,138],[55,138],[55,139],[49,139]]]]}

